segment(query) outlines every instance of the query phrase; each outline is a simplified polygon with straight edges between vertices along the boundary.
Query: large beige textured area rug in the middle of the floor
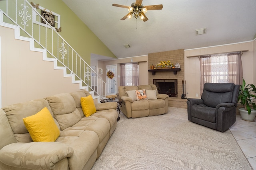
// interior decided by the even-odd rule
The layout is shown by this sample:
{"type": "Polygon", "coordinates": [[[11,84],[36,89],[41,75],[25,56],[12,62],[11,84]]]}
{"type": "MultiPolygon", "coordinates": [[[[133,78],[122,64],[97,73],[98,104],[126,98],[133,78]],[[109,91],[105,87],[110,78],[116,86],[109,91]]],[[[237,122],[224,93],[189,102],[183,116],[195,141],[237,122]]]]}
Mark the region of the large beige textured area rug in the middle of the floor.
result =
{"type": "Polygon", "coordinates": [[[162,115],[119,123],[92,170],[252,170],[230,130],[162,115]]]}

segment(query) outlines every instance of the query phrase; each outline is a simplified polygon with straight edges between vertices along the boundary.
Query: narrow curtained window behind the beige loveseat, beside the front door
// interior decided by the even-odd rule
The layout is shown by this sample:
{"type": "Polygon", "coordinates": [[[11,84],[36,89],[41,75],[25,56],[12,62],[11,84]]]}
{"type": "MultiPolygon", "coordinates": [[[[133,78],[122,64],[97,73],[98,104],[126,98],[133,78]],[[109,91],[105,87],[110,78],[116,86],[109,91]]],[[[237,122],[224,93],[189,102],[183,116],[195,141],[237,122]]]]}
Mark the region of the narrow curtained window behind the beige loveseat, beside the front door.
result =
{"type": "Polygon", "coordinates": [[[139,85],[139,64],[126,63],[120,64],[121,67],[121,86],[138,86],[139,85]]]}

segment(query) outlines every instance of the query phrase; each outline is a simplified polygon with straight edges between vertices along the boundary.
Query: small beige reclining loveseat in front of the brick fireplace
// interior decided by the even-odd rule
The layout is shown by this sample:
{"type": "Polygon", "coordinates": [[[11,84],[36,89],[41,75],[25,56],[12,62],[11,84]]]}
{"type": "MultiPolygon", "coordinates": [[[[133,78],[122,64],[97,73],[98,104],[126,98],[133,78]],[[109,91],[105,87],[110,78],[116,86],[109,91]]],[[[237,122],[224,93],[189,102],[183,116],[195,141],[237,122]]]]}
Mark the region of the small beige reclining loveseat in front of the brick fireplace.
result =
{"type": "Polygon", "coordinates": [[[120,107],[122,113],[126,117],[146,117],[153,115],[162,115],[168,112],[168,95],[158,94],[156,85],[140,85],[140,86],[119,86],[118,93],[120,99],[124,100],[120,107]],[[132,90],[146,90],[147,99],[137,100],[127,92],[132,90]],[[154,98],[154,93],[155,98],[154,98]],[[129,97],[130,96],[130,97],[129,97]]]}

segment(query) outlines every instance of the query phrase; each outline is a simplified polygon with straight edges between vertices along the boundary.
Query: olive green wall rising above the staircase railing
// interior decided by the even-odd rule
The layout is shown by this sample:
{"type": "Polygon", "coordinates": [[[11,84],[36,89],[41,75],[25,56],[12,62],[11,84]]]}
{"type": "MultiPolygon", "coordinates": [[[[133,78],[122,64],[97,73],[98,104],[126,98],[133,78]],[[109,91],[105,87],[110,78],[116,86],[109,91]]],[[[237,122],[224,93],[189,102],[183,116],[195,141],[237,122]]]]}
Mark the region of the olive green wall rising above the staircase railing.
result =
{"type": "Polygon", "coordinates": [[[90,64],[91,53],[117,58],[62,0],[33,0],[32,2],[60,14],[62,27],[60,35],[88,64],[90,64]]]}

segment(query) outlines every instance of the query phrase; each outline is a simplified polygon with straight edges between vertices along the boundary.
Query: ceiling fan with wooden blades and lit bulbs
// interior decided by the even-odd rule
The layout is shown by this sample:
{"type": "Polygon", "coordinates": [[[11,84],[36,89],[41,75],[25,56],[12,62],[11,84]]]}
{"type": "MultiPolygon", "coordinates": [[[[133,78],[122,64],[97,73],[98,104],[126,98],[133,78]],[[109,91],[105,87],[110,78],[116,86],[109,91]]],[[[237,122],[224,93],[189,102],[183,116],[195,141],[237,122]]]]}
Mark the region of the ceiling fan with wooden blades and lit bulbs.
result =
{"type": "Polygon", "coordinates": [[[132,15],[134,15],[134,18],[140,17],[142,21],[148,21],[148,18],[146,17],[147,10],[162,10],[163,5],[149,5],[149,6],[143,6],[142,0],[136,0],[136,2],[132,3],[131,6],[124,6],[119,4],[112,4],[112,6],[121,7],[121,8],[128,8],[129,13],[121,18],[121,20],[125,20],[126,18],[131,19],[132,15]]]}

